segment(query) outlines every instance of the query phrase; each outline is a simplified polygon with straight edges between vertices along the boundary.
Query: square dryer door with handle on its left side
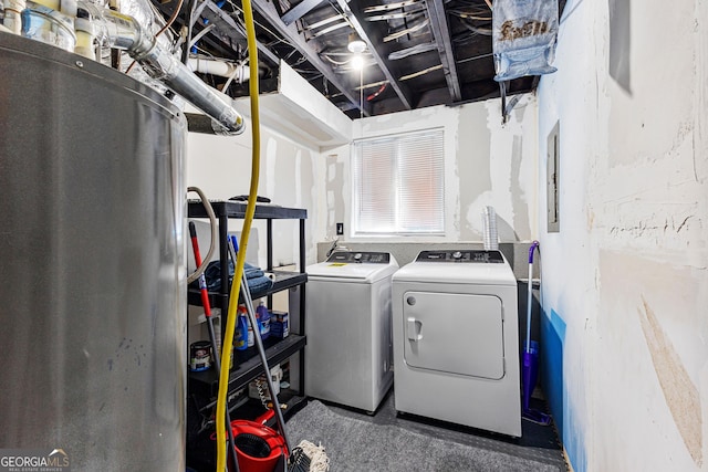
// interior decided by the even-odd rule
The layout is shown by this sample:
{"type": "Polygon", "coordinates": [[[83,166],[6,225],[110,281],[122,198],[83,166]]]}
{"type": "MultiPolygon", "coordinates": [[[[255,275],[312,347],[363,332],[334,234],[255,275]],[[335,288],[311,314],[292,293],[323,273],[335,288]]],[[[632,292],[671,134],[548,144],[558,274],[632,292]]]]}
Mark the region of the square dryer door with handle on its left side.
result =
{"type": "Polygon", "coordinates": [[[492,380],[504,376],[503,307],[499,297],[406,292],[403,305],[407,366],[492,380]]]}

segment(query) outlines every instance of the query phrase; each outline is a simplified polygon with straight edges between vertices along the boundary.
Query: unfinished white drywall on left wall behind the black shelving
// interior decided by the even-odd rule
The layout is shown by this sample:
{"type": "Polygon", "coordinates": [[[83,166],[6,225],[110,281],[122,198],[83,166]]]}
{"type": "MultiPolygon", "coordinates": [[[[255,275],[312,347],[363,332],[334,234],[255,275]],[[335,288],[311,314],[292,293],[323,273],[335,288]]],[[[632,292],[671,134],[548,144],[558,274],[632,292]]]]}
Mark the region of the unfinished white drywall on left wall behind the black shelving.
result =
{"type": "MultiPolygon", "coordinates": [[[[250,126],[250,120],[247,122],[250,126]]],[[[187,139],[188,186],[201,188],[209,199],[228,200],[231,197],[248,195],[251,177],[251,135],[247,129],[235,137],[210,136],[190,133],[187,139]]],[[[305,260],[315,261],[316,220],[319,212],[316,185],[324,180],[321,176],[319,149],[261,127],[261,166],[258,193],[271,199],[272,204],[308,210],[305,222],[305,260]]],[[[195,193],[189,196],[197,198],[195,193]]],[[[231,220],[229,231],[239,232],[242,220],[231,220]]],[[[289,265],[299,261],[300,228],[298,220],[277,220],[273,222],[273,264],[289,265]]],[[[249,261],[260,266],[267,264],[266,222],[254,220],[249,242],[258,248],[258,260],[249,261]]]]}

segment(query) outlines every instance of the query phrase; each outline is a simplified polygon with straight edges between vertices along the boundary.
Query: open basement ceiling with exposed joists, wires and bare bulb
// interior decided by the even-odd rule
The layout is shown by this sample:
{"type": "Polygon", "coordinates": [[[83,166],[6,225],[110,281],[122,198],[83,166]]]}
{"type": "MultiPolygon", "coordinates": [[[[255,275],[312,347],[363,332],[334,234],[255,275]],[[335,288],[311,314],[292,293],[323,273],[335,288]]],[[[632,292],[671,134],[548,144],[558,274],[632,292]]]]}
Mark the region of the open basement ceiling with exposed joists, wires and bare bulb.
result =
{"type": "MultiPolygon", "coordinates": [[[[490,1],[251,0],[261,92],[277,90],[284,61],[352,118],[500,97],[490,1]],[[352,38],[366,44],[361,71],[347,50],[352,38]]],[[[240,1],[184,2],[155,6],[166,19],[178,9],[173,30],[191,27],[190,56],[246,63],[240,1]]],[[[564,4],[559,0],[559,11],[564,4]]],[[[248,95],[247,81],[200,75],[232,97],[248,95]]],[[[532,92],[538,78],[507,82],[504,94],[532,92]]]]}

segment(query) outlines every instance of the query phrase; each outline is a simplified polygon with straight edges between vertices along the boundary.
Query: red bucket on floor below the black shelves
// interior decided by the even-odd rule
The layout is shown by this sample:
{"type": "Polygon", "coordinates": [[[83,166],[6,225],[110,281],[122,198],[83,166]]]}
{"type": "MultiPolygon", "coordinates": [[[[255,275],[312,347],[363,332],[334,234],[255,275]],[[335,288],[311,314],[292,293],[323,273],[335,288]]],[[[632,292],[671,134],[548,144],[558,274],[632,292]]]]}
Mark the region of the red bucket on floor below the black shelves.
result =
{"type": "MultiPolygon", "coordinates": [[[[288,459],[285,440],[272,428],[254,421],[231,421],[239,470],[248,472],[273,472],[281,457],[288,459]]],[[[211,436],[216,439],[216,434],[211,436]]],[[[229,472],[232,472],[229,461],[229,472]]]]}

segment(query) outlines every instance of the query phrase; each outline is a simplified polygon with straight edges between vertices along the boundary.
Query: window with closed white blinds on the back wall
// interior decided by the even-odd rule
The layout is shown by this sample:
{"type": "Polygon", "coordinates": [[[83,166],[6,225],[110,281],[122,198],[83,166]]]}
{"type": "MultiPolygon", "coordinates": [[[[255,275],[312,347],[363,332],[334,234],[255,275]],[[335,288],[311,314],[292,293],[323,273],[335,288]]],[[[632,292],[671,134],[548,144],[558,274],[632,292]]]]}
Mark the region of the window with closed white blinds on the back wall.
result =
{"type": "Polygon", "coordinates": [[[354,141],[355,235],[445,234],[442,129],[354,141]]]}

